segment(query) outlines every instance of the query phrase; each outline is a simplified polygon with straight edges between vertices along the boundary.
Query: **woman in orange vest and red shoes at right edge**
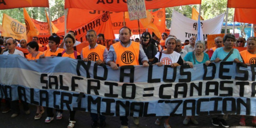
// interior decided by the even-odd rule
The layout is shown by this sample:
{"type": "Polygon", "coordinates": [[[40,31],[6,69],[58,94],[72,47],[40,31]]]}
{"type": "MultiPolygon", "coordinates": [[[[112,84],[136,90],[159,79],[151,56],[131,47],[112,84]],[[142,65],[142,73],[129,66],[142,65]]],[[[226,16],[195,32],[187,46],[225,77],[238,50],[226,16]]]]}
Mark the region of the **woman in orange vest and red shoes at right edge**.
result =
{"type": "MultiPolygon", "coordinates": [[[[240,55],[247,66],[256,64],[255,61],[250,61],[252,58],[256,58],[256,38],[251,37],[247,40],[247,50],[240,52],[240,55]]],[[[245,118],[242,115],[239,122],[241,126],[246,126],[244,120],[245,118]]],[[[256,116],[253,116],[252,124],[256,125],[256,116]]]]}

